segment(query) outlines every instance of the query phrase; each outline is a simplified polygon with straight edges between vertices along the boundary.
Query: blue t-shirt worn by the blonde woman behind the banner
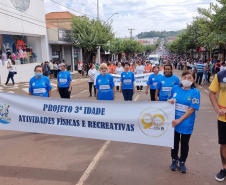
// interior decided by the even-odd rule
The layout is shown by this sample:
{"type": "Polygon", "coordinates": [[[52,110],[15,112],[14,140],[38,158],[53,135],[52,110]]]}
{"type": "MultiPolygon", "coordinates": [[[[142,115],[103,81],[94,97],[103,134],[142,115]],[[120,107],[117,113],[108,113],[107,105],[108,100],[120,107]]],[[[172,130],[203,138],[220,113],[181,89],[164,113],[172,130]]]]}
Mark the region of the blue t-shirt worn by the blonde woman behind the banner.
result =
{"type": "Polygon", "coordinates": [[[98,100],[114,100],[112,88],[115,87],[114,78],[111,74],[99,74],[96,79],[96,89],[98,89],[98,100]]]}

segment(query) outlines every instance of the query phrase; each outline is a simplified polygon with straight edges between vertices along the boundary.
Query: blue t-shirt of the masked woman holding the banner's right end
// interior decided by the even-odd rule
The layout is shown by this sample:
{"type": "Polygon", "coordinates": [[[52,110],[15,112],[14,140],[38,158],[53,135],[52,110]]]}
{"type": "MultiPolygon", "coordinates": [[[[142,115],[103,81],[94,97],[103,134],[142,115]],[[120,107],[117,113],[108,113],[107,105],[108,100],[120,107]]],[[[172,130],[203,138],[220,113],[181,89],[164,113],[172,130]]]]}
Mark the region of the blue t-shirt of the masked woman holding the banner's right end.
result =
{"type": "MultiPolygon", "coordinates": [[[[200,92],[198,89],[191,88],[184,90],[180,86],[174,86],[169,98],[176,99],[175,119],[179,119],[190,108],[199,110],[200,106],[200,92]]],[[[181,134],[192,134],[195,124],[195,111],[187,119],[182,121],[175,127],[175,130],[181,134]]]]}

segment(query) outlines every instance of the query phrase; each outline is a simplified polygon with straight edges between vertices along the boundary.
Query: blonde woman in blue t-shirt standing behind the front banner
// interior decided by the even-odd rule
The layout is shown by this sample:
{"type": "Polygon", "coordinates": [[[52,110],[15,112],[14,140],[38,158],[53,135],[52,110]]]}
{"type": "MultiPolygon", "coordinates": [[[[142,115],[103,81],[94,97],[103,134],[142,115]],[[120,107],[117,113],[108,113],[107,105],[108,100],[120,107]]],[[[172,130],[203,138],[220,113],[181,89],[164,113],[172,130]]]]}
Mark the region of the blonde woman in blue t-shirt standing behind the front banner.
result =
{"type": "Polygon", "coordinates": [[[108,73],[108,67],[102,63],[100,74],[96,78],[96,100],[115,100],[114,78],[108,73]]]}

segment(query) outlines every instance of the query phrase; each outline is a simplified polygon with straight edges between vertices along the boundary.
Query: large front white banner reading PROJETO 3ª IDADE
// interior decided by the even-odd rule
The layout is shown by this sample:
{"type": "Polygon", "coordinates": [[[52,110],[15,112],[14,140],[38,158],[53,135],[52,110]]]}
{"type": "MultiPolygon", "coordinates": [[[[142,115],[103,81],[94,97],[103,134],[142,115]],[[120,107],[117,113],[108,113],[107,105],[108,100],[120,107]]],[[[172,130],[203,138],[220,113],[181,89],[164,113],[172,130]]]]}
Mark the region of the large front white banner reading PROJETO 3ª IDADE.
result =
{"type": "Polygon", "coordinates": [[[173,147],[175,105],[0,93],[0,129],[173,147]]]}

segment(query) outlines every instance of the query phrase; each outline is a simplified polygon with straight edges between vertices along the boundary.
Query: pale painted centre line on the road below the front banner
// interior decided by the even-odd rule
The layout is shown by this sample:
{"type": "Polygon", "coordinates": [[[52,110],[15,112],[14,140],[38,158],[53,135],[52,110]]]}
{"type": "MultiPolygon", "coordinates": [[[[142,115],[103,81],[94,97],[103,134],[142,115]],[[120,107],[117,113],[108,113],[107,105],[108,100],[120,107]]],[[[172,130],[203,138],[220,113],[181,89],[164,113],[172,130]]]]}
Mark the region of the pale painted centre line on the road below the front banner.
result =
{"type": "Polygon", "coordinates": [[[89,177],[90,173],[93,171],[93,169],[95,168],[95,166],[99,162],[100,157],[103,155],[104,151],[106,150],[106,148],[108,147],[108,145],[110,144],[110,142],[111,141],[108,140],[108,141],[106,141],[104,143],[104,145],[101,147],[101,149],[99,150],[99,152],[97,153],[97,155],[94,157],[94,159],[90,163],[89,167],[83,173],[82,177],[80,178],[80,180],[78,181],[78,183],[76,185],[83,185],[83,183],[85,182],[85,180],[89,177]]]}

